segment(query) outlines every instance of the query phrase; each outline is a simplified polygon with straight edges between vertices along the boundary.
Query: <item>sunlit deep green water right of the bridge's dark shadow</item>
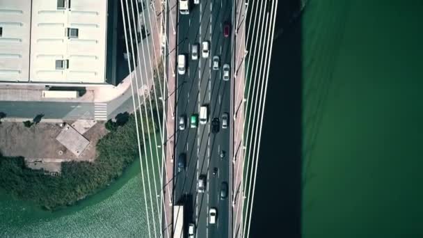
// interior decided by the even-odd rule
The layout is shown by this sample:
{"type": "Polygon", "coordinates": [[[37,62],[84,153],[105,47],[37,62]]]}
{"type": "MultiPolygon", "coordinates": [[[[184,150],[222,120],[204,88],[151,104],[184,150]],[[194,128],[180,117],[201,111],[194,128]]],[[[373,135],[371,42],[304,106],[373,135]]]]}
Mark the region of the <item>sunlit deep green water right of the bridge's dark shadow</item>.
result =
{"type": "Polygon", "coordinates": [[[310,1],[303,237],[423,237],[423,1],[310,1]]]}

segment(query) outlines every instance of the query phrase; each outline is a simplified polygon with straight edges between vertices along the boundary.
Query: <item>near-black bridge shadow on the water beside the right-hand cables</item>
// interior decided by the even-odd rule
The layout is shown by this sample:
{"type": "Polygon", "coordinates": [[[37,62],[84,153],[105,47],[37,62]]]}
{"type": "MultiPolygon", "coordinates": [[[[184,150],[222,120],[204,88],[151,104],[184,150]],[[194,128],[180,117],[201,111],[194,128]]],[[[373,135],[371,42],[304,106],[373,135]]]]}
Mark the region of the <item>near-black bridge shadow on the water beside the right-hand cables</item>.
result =
{"type": "Polygon", "coordinates": [[[279,1],[250,237],[301,237],[301,0],[279,1]],[[283,31],[282,31],[283,29],[283,31]]]}

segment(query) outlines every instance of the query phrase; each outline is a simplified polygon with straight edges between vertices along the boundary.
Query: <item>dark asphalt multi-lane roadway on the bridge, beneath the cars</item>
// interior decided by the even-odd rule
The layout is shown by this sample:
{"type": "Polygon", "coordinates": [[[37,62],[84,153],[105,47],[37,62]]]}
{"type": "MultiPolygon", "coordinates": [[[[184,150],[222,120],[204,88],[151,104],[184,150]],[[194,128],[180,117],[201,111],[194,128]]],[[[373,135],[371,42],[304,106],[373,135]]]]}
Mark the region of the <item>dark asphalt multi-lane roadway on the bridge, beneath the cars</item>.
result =
{"type": "MultiPolygon", "coordinates": [[[[192,2],[191,2],[192,3],[192,2]]],[[[229,154],[230,128],[212,134],[211,122],[222,113],[230,113],[230,84],[223,81],[223,64],[231,62],[231,38],[223,37],[223,22],[231,22],[232,1],[200,0],[200,5],[191,4],[189,15],[178,15],[177,51],[185,54],[188,62],[186,74],[177,75],[176,118],[186,116],[186,129],[180,131],[177,125],[175,145],[175,190],[176,203],[184,204],[184,223],[195,223],[196,237],[229,237],[230,198],[221,200],[221,183],[228,182],[230,158],[221,157],[221,151],[229,154]],[[202,58],[201,42],[209,41],[210,54],[202,58]],[[199,44],[198,60],[191,59],[191,44],[199,44]],[[212,70],[213,56],[220,56],[219,70],[212,70]],[[209,106],[206,125],[190,128],[189,119],[199,113],[200,106],[209,106]],[[186,170],[177,173],[177,157],[186,154],[186,170]],[[213,175],[213,169],[218,173],[213,175]],[[200,175],[207,176],[205,193],[197,192],[200,175]],[[209,223],[209,209],[217,209],[216,224],[209,223]]],[[[233,71],[233,70],[232,70],[233,71]]],[[[232,118],[229,118],[232,120],[232,118]]],[[[178,205],[178,204],[175,204],[178,205]]]]}

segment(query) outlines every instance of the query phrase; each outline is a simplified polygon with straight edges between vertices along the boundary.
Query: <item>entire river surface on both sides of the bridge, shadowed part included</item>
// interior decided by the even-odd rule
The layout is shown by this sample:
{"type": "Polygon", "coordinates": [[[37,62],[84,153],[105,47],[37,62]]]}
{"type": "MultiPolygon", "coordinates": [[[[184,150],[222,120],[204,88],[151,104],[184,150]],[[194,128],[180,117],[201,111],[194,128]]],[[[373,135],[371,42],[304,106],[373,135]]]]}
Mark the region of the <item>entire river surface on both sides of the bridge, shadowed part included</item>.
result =
{"type": "MultiPolygon", "coordinates": [[[[423,237],[422,3],[311,0],[278,35],[250,237],[423,237]]],[[[59,212],[1,191],[0,237],[146,237],[141,188],[136,162],[59,212]]]]}

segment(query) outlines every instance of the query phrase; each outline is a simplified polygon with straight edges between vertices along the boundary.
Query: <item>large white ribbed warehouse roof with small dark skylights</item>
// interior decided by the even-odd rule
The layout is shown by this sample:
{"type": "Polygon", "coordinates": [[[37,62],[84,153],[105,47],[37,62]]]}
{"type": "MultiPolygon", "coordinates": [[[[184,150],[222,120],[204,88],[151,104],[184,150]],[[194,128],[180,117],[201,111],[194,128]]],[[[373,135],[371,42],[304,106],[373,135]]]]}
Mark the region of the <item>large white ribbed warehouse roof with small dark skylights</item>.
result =
{"type": "Polygon", "coordinates": [[[0,81],[104,84],[106,23],[105,0],[0,0],[0,81]]]}

